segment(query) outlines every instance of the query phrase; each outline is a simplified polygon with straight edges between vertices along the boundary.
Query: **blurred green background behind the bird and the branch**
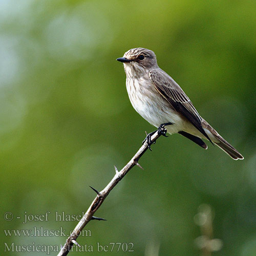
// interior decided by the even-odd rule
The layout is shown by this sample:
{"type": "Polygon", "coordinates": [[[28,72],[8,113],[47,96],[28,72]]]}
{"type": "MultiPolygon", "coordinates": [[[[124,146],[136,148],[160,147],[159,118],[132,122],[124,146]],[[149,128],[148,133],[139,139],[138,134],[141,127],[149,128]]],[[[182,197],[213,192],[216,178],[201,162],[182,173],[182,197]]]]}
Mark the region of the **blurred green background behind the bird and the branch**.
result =
{"type": "Polygon", "coordinates": [[[205,203],[223,243],[212,254],[256,255],[255,12],[254,0],[1,1],[2,251],[5,242],[65,243],[4,230],[73,229],[77,221],[55,221],[55,212],[86,211],[89,185],[103,189],[154,131],[132,108],[115,60],[145,47],[245,160],[180,135],[159,138],[144,170],[134,167],[97,211],[108,221],[90,222],[91,236],[78,238],[94,251],[70,255],[203,255],[194,216],[205,203]],[[22,223],[47,211],[48,221],[22,223]],[[131,242],[134,252],[98,252],[97,242],[131,242]]]}

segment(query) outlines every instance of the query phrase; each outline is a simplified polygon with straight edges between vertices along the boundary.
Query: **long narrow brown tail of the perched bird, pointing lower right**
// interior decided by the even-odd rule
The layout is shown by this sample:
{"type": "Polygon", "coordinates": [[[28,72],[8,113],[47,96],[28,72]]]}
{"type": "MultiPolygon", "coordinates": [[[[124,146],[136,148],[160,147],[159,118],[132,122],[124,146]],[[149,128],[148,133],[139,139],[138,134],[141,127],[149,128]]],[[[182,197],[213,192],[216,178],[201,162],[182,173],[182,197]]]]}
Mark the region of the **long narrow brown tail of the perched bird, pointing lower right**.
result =
{"type": "Polygon", "coordinates": [[[220,147],[226,154],[228,154],[231,158],[234,160],[238,159],[244,159],[244,157],[234,148],[232,145],[230,145],[225,139],[223,139],[215,130],[212,128],[205,120],[203,121],[203,128],[208,130],[211,134],[209,136],[212,138],[212,141],[220,147]]]}

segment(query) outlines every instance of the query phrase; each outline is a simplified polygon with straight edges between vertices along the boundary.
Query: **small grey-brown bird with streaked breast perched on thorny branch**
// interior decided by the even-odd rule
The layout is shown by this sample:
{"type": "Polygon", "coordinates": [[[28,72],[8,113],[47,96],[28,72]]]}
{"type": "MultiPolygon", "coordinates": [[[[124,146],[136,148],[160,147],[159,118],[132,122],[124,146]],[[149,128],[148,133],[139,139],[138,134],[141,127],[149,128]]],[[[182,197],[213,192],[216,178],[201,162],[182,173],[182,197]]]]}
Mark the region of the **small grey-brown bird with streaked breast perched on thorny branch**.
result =
{"type": "MultiPolygon", "coordinates": [[[[158,127],[156,132],[165,137],[166,132],[170,135],[181,134],[205,150],[207,145],[202,139],[206,139],[232,159],[244,159],[199,115],[179,84],[158,67],[152,50],[133,48],[116,60],[123,62],[126,89],[133,108],[146,121],[158,127]]],[[[147,141],[150,147],[153,133],[148,134],[142,143],[147,141]]]]}

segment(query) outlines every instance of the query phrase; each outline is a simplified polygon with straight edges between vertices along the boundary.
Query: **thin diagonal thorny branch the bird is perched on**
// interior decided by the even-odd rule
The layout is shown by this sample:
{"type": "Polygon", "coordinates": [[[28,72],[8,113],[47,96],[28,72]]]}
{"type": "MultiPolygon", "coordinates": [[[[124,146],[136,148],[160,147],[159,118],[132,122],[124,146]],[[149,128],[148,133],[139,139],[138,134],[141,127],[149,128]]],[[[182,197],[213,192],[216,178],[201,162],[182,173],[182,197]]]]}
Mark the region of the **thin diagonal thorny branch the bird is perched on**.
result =
{"type": "MultiPolygon", "coordinates": [[[[166,130],[165,130],[166,131],[166,130]]],[[[166,132],[165,132],[166,133],[166,132]]],[[[161,133],[154,133],[151,135],[151,143],[154,143],[162,134],[161,133]]],[[[165,135],[165,134],[163,134],[165,135]]],[[[76,246],[79,246],[79,244],[76,242],[76,239],[78,238],[80,232],[88,224],[91,220],[104,220],[102,218],[94,217],[95,211],[100,207],[100,205],[103,203],[105,198],[109,195],[110,191],[117,185],[117,183],[129,172],[130,169],[132,169],[135,165],[138,165],[140,168],[140,164],[138,163],[141,156],[147,151],[148,144],[144,143],[138,152],[134,155],[134,157],[118,172],[116,166],[116,174],[113,177],[113,179],[110,181],[106,187],[98,191],[97,189],[91,187],[96,193],[97,196],[93,200],[92,204],[88,208],[87,212],[84,214],[82,219],[79,221],[69,238],[67,239],[65,245],[61,248],[60,252],[57,256],[65,256],[68,255],[69,251],[71,250],[72,246],[75,244],[76,246]]],[[[143,169],[143,168],[142,168],[143,169]]]]}

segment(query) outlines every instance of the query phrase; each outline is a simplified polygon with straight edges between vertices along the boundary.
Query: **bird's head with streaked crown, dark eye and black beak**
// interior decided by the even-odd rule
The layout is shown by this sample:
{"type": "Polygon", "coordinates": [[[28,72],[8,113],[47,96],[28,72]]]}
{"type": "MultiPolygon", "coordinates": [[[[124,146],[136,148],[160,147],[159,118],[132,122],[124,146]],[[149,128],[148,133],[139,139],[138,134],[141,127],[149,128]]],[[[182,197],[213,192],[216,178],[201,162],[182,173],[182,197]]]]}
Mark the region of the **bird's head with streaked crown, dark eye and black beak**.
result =
{"type": "Polygon", "coordinates": [[[116,60],[124,63],[127,76],[141,76],[149,70],[158,68],[155,53],[145,48],[133,48],[116,60]]]}

